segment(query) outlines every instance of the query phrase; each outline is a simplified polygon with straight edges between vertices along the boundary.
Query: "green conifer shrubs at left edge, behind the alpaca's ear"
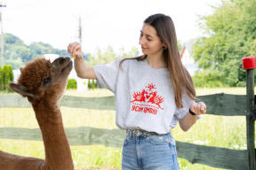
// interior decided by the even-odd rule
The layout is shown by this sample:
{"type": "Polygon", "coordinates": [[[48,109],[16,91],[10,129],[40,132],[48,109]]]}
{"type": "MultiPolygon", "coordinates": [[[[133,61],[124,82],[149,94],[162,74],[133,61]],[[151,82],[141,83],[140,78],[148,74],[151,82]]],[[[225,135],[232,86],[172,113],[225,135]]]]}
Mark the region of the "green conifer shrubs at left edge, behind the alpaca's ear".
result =
{"type": "Polygon", "coordinates": [[[0,91],[11,92],[10,81],[13,81],[12,66],[4,65],[4,68],[0,66],[0,91]]]}

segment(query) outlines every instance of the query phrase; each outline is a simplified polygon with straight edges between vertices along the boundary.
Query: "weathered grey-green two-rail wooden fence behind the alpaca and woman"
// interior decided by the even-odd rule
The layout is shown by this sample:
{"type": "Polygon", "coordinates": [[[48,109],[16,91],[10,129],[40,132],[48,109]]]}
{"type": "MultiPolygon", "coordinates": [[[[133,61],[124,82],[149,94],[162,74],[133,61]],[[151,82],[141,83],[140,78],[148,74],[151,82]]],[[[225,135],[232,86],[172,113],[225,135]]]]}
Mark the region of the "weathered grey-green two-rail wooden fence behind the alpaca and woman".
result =
{"type": "MultiPolygon", "coordinates": [[[[252,95],[253,99],[251,98],[250,101],[254,106],[254,91],[252,95]]],[[[250,126],[252,128],[252,122],[250,121],[253,120],[251,119],[252,112],[248,112],[248,102],[246,102],[246,100],[248,101],[248,97],[222,93],[201,96],[198,98],[207,104],[207,114],[248,117],[248,119],[246,119],[247,150],[231,150],[177,141],[178,157],[186,158],[193,164],[198,163],[224,169],[254,169],[252,162],[250,162],[255,160],[254,124],[253,129],[249,129],[250,126]],[[248,130],[253,131],[253,138],[252,136],[248,136],[252,135],[248,130]],[[254,156],[252,155],[252,152],[254,152],[254,156]]],[[[116,110],[115,97],[64,96],[60,106],[95,110],[116,110]]],[[[20,95],[3,95],[0,96],[0,107],[31,107],[31,104],[28,103],[27,98],[22,98],[20,95]]],[[[65,128],[65,131],[68,135],[68,142],[70,145],[102,144],[105,146],[122,148],[125,135],[124,130],[90,127],[65,128]]],[[[42,141],[42,135],[39,128],[0,128],[0,138],[42,141]]]]}

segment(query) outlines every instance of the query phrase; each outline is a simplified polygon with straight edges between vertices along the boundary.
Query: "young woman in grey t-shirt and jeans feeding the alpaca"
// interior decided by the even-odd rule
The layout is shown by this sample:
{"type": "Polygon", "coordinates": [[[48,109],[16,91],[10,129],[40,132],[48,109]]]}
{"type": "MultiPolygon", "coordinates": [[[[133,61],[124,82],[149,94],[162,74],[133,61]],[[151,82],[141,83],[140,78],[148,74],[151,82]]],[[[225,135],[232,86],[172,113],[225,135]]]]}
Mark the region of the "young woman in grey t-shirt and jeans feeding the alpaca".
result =
{"type": "Polygon", "coordinates": [[[155,14],[144,20],[140,30],[143,55],[108,65],[87,66],[81,44],[69,43],[76,54],[77,76],[96,79],[100,88],[116,97],[116,125],[126,130],[122,169],[180,169],[175,141],[170,134],[178,120],[188,131],[206,112],[195,103],[193,81],[182,65],[172,19],[155,14]]]}

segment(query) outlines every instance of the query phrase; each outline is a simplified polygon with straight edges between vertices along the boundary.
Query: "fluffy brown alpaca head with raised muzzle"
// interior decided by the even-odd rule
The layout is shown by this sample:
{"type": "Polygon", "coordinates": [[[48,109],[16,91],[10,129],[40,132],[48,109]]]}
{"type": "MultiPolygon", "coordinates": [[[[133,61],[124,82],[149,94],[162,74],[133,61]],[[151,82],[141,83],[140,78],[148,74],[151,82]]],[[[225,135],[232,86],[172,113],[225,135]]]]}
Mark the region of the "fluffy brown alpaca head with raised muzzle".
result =
{"type": "Polygon", "coordinates": [[[9,86],[22,97],[28,97],[32,105],[44,103],[56,107],[65,92],[72,66],[70,58],[57,58],[52,64],[45,58],[36,58],[20,68],[18,83],[9,86]]]}

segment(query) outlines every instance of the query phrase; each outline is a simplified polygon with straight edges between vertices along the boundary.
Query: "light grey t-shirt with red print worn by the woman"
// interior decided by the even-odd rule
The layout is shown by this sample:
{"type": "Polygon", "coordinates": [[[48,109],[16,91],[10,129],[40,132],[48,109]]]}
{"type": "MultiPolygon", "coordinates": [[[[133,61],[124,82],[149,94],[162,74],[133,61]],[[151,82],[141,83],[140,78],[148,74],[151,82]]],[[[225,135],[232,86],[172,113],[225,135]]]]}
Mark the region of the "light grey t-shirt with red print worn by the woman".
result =
{"type": "Polygon", "coordinates": [[[120,61],[92,67],[100,89],[115,94],[116,126],[157,134],[170,132],[195,101],[182,94],[183,108],[177,108],[167,68],[152,68],[145,59],[128,59],[122,65],[123,71],[119,69],[120,61]]]}

